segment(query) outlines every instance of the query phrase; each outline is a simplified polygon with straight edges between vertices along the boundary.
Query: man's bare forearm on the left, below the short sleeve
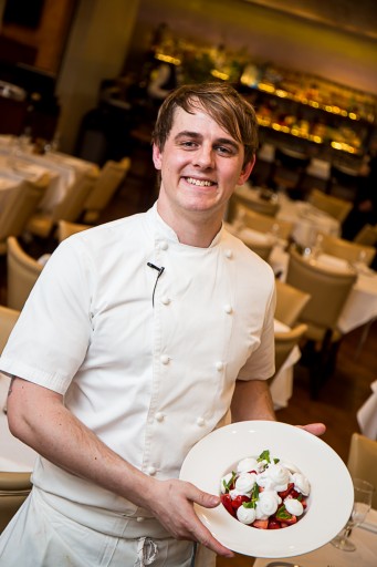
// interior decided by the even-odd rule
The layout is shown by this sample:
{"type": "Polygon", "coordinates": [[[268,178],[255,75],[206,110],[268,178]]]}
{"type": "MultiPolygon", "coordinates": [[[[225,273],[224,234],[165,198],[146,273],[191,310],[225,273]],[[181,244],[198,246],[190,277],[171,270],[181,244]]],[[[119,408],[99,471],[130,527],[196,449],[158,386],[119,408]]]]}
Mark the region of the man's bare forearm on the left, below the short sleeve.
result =
{"type": "Polygon", "coordinates": [[[8,398],[12,434],[56,466],[144,506],[157,481],[145,475],[77,420],[62,396],[13,379],[8,398]]]}

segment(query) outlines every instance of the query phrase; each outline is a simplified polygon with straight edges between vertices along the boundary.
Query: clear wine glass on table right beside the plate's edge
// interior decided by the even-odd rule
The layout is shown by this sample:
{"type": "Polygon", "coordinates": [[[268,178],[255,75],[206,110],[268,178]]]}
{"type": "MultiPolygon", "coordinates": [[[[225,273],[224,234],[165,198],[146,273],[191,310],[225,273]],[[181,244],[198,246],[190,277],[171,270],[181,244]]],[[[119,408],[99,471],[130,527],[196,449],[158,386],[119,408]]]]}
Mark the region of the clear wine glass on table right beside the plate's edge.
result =
{"type": "Polygon", "coordinates": [[[341,534],[338,534],[331,543],[343,551],[355,551],[356,546],[350,542],[349,536],[354,527],[365,520],[371,506],[371,496],[374,493],[373,484],[362,478],[353,478],[354,484],[354,506],[349,519],[341,534]]]}

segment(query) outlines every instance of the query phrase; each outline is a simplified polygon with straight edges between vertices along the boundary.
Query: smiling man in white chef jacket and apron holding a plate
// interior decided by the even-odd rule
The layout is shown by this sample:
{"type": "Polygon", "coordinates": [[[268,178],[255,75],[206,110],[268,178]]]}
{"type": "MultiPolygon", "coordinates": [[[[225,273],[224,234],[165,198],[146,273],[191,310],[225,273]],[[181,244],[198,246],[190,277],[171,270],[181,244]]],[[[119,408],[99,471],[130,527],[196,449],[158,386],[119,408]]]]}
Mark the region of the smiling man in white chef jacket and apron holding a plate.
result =
{"type": "Polygon", "coordinates": [[[71,237],[43,269],[0,364],[10,429],[41,455],[2,536],[8,567],[186,567],[192,540],[232,556],[192,507],[219,497],[177,478],[230,406],[275,419],[273,272],[222,228],[255,150],[231,86],[178,89],[154,132],[157,204],[71,237]]]}

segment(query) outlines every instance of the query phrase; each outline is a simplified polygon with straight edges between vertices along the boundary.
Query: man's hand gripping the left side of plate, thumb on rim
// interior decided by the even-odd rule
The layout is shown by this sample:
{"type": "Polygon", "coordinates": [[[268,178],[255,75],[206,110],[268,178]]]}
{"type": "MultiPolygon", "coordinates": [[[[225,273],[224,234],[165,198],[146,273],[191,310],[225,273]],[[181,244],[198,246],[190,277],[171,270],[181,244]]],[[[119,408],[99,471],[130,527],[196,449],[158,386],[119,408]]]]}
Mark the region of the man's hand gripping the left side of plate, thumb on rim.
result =
{"type": "Polygon", "coordinates": [[[193,503],[205,508],[214,508],[220,504],[220,498],[184,481],[157,481],[148,507],[176,539],[198,542],[218,555],[233,557],[234,554],[214,539],[200,522],[193,503]]]}

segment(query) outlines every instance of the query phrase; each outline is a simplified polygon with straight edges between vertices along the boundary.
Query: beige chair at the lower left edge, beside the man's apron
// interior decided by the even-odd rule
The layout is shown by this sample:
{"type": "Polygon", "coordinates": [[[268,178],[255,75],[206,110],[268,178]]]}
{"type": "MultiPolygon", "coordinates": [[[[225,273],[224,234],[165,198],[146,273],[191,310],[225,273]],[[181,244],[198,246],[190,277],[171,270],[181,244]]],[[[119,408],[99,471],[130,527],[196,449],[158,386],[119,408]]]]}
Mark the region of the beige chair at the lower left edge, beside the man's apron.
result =
{"type": "Polygon", "coordinates": [[[0,533],[32,488],[31,473],[0,472],[0,533]]]}

